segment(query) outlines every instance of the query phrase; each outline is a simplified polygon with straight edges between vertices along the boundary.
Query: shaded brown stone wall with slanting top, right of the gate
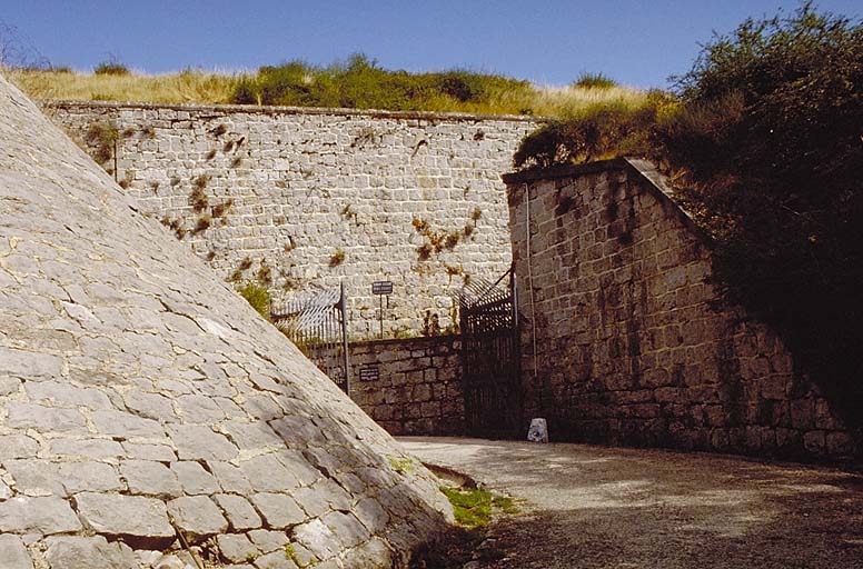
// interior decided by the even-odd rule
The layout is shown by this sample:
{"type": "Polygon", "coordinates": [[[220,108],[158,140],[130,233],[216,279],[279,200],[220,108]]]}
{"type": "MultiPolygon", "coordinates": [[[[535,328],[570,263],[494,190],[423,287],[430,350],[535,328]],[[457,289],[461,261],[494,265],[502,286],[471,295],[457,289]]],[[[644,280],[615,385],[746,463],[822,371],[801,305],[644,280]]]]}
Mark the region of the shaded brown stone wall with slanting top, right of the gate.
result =
{"type": "Polygon", "coordinates": [[[795,458],[854,452],[776,335],[717,305],[707,241],[649,164],[504,179],[526,318],[526,412],[547,417],[553,438],[795,458]]]}

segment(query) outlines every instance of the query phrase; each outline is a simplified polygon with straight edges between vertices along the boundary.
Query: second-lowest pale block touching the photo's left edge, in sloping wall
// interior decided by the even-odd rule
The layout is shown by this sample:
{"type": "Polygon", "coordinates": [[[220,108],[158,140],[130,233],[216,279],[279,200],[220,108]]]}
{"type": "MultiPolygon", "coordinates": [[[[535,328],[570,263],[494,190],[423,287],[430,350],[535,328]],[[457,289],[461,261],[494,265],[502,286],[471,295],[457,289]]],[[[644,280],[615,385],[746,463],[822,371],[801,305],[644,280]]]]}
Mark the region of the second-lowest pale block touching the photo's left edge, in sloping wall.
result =
{"type": "Polygon", "coordinates": [[[0,532],[50,536],[80,529],[78,517],[61,498],[21,497],[0,502],[0,532]]]}

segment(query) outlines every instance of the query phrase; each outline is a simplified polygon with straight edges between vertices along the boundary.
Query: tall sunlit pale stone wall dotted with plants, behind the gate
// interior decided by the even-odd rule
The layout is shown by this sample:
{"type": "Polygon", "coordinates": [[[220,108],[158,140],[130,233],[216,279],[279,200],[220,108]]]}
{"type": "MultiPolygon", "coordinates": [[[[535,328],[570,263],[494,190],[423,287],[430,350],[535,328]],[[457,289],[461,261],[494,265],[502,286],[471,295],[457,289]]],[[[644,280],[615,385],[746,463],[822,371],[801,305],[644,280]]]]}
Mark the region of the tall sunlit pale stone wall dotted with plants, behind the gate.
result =
{"type": "Polygon", "coordinates": [[[535,127],[519,117],[334,109],[47,103],[133,196],[225,278],[277,297],[335,288],[351,333],[450,323],[450,287],[509,266],[500,173],[535,127]],[[111,137],[116,134],[116,144],[111,137]]]}

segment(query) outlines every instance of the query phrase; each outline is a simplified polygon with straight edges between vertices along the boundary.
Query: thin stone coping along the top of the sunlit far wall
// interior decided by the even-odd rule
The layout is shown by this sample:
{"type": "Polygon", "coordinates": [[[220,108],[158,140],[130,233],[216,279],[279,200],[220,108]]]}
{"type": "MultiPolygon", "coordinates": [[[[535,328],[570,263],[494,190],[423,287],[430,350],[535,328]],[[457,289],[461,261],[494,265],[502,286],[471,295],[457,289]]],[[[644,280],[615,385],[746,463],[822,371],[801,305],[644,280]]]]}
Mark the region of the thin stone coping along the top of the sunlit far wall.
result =
{"type": "Polygon", "coordinates": [[[344,109],[321,107],[277,107],[257,104],[189,104],[189,103],[150,103],[133,101],[73,101],[73,100],[41,100],[42,107],[57,108],[90,108],[90,109],[143,109],[159,110],[170,109],[175,111],[194,112],[245,112],[250,114],[333,114],[338,117],[368,117],[371,119],[419,119],[419,120],[446,120],[446,121],[507,121],[507,122],[544,122],[545,117],[522,114],[480,114],[469,112],[434,112],[434,111],[388,111],[380,109],[344,109]]]}

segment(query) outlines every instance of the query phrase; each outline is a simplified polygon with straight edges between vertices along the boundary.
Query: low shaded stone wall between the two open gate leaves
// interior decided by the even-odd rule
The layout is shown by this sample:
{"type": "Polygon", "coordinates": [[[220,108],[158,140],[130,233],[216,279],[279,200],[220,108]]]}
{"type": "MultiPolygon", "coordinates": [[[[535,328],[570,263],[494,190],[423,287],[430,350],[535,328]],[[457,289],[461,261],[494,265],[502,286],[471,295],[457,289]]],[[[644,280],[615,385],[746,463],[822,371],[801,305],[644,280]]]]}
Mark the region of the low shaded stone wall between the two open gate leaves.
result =
{"type": "Polygon", "coordinates": [[[390,435],[462,435],[458,336],[350,345],[350,397],[390,435]]]}

